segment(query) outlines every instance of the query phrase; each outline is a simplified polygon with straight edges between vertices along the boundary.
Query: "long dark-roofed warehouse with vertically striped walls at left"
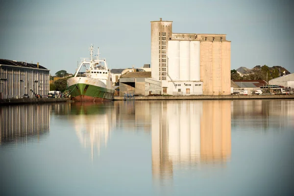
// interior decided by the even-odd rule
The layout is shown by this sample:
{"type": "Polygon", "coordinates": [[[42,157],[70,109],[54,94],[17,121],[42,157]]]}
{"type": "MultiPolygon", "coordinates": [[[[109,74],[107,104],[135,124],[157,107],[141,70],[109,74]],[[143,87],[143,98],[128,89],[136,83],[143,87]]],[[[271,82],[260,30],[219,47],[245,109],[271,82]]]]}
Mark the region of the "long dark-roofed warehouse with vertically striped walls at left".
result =
{"type": "Polygon", "coordinates": [[[49,71],[37,64],[0,59],[0,98],[49,93],[49,71]]]}

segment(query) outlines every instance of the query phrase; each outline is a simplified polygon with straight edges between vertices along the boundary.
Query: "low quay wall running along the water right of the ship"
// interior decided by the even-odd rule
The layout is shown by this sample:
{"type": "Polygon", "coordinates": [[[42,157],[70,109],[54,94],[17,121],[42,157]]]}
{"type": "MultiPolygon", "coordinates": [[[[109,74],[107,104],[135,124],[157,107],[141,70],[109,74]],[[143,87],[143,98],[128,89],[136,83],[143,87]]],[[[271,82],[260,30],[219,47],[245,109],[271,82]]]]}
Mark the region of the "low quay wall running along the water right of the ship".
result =
{"type": "MultiPolygon", "coordinates": [[[[135,100],[189,100],[189,99],[294,99],[294,95],[198,95],[198,96],[135,96],[135,100]]],[[[113,100],[123,100],[123,97],[114,97],[113,100]]]]}

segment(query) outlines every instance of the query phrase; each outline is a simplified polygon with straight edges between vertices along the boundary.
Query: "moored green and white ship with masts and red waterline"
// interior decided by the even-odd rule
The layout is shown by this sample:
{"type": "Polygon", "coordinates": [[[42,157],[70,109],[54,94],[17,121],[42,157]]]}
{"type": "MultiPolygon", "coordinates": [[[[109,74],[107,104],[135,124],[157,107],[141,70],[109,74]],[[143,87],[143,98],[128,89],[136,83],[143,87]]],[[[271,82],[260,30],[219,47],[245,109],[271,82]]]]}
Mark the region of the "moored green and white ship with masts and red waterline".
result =
{"type": "Polygon", "coordinates": [[[78,102],[113,100],[114,88],[106,59],[99,59],[99,48],[97,55],[93,45],[89,50],[90,58],[82,58],[74,76],[67,80],[68,95],[78,102]]]}

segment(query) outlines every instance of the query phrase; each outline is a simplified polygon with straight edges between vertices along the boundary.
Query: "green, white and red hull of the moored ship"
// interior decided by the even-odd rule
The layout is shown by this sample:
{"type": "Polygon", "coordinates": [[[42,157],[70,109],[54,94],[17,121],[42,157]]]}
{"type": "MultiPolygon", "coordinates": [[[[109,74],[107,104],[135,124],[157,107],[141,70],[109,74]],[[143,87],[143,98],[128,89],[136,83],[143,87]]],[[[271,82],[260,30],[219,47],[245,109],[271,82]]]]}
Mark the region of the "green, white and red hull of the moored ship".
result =
{"type": "Polygon", "coordinates": [[[97,78],[71,77],[67,80],[71,99],[78,102],[113,100],[114,90],[97,78]]]}

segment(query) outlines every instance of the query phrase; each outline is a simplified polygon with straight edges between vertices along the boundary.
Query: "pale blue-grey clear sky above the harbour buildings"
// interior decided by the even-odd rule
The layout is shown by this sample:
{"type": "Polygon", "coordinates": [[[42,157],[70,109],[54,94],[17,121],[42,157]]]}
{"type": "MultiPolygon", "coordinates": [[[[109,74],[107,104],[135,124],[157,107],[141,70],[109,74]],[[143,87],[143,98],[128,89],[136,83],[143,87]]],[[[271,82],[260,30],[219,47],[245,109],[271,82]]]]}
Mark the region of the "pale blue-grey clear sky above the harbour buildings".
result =
{"type": "MultiPolygon", "coordinates": [[[[74,73],[99,47],[110,69],[151,62],[150,21],[174,33],[226,34],[231,70],[280,65],[294,73],[293,0],[0,0],[0,59],[74,73]]],[[[152,65],[151,65],[152,66],[152,65]]]]}

